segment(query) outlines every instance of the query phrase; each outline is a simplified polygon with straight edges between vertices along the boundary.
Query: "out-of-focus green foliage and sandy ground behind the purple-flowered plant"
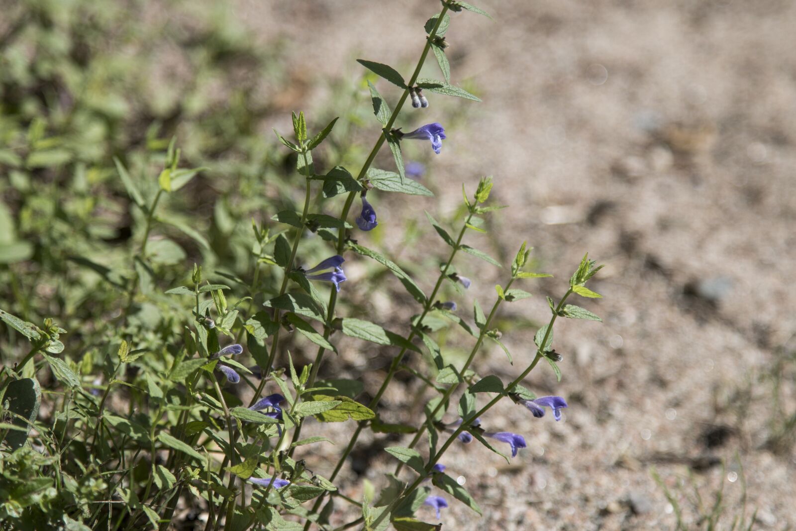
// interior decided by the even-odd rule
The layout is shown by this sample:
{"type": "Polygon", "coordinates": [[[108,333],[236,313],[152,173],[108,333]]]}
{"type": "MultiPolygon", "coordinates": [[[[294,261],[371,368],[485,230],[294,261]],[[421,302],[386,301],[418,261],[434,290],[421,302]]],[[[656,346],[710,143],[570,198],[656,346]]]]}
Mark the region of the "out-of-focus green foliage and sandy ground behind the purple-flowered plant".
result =
{"type": "MultiPolygon", "coordinates": [[[[510,466],[481,447],[453,448],[447,467],[485,514],[474,520],[451,501],[443,529],[739,529],[755,511],[753,529],[792,528],[796,5],[478,6],[495,20],[451,14],[447,54],[451,82],[483,103],[428,94],[428,109],[401,115],[404,131],[446,128],[442,154],[419,143],[404,152],[436,197],[369,195],[380,226],[363,240],[425,286],[440,257],[423,209],[456,223],[462,183],[473,190],[493,175],[493,201],[510,208],[474,245],[508,263],[528,240],[537,269],[556,278],[501,308],[516,363],[486,349],[479,372],[516,376],[548,318],[544,295],[563,293],[584,252],[607,264],[593,286],[604,299],[583,303],[604,322],[560,322],[563,380],[540,368],[526,381],[568,400],[564,420],[496,408],[490,425],[529,443],[510,466]]],[[[252,218],[302,199],[295,159],[271,127],[290,131],[291,111],[305,111],[314,131],[341,116],[315,164],[358,170],[379,127],[355,59],[408,76],[438,10],[429,0],[0,0],[2,307],[56,318],[73,361],[102,348],[140,215],[112,158],[156,187],[173,135],[185,164],[208,169],[164,203],[158,284],[178,285],[194,261],[248,279],[252,218]]],[[[433,59],[421,76],[439,77],[433,59]]],[[[379,88],[394,104],[398,89],[379,88]]],[[[376,166],[392,170],[387,150],[376,166]]],[[[336,214],[339,202],[318,208],[336,214]]],[[[462,309],[474,297],[483,306],[505,279],[471,261],[458,269],[474,279],[466,295],[451,291],[462,309]]],[[[415,308],[400,285],[357,287],[378,271],[346,267],[345,311],[403,330],[415,308]]],[[[153,300],[131,326],[145,330],[168,304],[153,300]]],[[[16,341],[0,330],[2,364],[18,359],[16,341]]],[[[443,345],[453,360],[466,355],[466,338],[443,345]]],[[[324,370],[374,392],[391,355],[352,347],[324,370]]],[[[396,420],[422,415],[417,389],[409,380],[389,389],[396,420]]],[[[310,468],[330,472],[346,424],[324,427],[338,446],[307,456],[310,468]]],[[[351,497],[361,498],[361,478],[383,481],[389,437],[362,439],[341,475],[351,497]]]]}

